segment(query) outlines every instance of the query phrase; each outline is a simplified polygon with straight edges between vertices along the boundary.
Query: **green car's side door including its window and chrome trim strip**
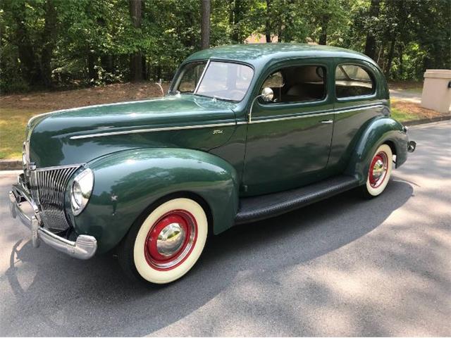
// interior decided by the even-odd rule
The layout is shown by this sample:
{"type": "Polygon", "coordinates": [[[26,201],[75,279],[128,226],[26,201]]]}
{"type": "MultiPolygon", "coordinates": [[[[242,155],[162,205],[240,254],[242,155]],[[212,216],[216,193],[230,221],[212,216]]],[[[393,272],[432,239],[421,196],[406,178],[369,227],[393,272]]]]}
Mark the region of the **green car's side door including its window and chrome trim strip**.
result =
{"type": "MultiPolygon", "coordinates": [[[[244,194],[266,194],[321,180],[333,133],[328,90],[331,59],[302,59],[268,69],[257,87],[271,87],[273,101],[257,99],[247,124],[244,194]]],[[[258,92],[258,93],[259,93],[258,92]]]]}

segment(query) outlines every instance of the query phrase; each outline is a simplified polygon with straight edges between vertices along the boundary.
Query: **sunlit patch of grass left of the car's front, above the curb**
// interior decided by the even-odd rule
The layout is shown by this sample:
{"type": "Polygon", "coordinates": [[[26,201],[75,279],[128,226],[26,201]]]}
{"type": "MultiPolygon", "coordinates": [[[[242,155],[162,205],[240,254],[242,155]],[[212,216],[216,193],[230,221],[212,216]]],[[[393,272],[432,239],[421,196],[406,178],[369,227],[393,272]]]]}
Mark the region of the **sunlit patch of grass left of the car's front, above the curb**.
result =
{"type": "Polygon", "coordinates": [[[0,158],[20,158],[25,139],[25,127],[32,116],[42,109],[0,108],[0,158]]]}

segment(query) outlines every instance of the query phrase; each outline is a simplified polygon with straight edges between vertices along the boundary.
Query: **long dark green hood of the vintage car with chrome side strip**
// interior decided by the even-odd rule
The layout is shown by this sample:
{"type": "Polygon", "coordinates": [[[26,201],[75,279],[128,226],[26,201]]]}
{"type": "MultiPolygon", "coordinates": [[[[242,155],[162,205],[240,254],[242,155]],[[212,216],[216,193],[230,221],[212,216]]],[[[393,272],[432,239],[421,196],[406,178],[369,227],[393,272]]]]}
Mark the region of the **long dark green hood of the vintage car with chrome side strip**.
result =
{"type": "MultiPolygon", "coordinates": [[[[87,163],[103,154],[130,148],[184,146],[183,142],[178,142],[174,137],[168,140],[166,135],[171,128],[233,124],[233,108],[235,104],[226,101],[178,94],[160,99],[87,106],[39,115],[27,125],[30,161],[35,162],[39,168],[87,163]],[[167,132],[135,134],[140,130],[159,128],[164,128],[167,132]],[[92,134],[100,136],[90,137],[92,134]]],[[[203,145],[196,144],[193,134],[190,137],[190,148],[211,149],[226,142],[230,134],[223,133],[221,137],[203,145]]],[[[202,141],[199,139],[199,142],[202,141]]]]}

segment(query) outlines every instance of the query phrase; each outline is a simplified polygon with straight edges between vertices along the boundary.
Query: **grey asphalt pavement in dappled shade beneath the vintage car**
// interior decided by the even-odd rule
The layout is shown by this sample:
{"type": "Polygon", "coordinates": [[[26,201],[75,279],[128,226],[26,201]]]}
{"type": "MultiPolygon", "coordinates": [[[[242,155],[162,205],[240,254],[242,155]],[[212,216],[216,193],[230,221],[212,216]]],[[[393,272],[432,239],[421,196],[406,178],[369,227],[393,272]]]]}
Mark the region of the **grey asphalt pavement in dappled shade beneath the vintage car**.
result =
{"type": "Polygon", "coordinates": [[[0,175],[0,336],[450,336],[451,123],[383,196],[351,191],[212,239],[182,280],[128,281],[112,256],[78,261],[9,217],[0,175]]]}

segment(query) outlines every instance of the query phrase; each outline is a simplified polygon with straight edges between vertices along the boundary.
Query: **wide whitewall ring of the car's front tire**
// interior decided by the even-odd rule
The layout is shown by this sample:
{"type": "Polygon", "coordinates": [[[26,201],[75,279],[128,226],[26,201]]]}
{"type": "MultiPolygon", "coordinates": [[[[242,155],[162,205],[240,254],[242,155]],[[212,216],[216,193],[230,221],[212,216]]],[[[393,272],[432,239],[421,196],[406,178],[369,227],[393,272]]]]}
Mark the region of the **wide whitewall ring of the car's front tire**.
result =
{"type": "Polygon", "coordinates": [[[171,199],[160,204],[153,209],[151,213],[144,215],[137,223],[137,232],[135,238],[130,246],[130,258],[133,265],[133,270],[136,274],[147,282],[154,284],[166,284],[178,280],[183,277],[197,262],[202,251],[204,250],[206,237],[208,235],[208,220],[206,213],[202,206],[196,201],[187,198],[171,199]],[[193,244],[190,254],[177,266],[168,270],[157,270],[147,263],[144,244],[147,239],[147,234],[152,226],[161,216],[174,210],[185,210],[191,213],[197,223],[197,239],[193,244]]]}

